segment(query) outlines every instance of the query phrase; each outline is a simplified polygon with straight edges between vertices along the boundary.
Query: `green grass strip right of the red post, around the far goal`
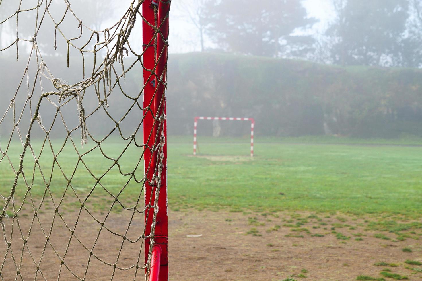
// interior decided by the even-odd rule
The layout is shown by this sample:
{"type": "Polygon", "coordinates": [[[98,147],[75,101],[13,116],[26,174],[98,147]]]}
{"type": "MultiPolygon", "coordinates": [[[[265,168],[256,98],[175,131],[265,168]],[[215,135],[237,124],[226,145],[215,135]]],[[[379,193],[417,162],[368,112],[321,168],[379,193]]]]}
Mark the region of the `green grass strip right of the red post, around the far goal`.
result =
{"type": "Polygon", "coordinates": [[[170,205],[420,215],[422,147],[294,141],[257,139],[250,159],[247,140],[205,139],[191,157],[190,143],[170,137],[170,205]]]}

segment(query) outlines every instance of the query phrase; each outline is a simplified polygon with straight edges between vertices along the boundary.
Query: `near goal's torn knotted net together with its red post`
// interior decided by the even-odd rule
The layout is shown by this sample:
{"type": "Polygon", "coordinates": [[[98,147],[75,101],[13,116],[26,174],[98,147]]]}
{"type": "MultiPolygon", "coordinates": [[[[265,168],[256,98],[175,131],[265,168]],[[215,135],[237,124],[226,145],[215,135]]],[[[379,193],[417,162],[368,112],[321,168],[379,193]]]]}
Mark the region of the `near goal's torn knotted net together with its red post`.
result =
{"type": "Polygon", "coordinates": [[[168,279],[170,0],[118,4],[0,0],[1,280],[168,279]]]}

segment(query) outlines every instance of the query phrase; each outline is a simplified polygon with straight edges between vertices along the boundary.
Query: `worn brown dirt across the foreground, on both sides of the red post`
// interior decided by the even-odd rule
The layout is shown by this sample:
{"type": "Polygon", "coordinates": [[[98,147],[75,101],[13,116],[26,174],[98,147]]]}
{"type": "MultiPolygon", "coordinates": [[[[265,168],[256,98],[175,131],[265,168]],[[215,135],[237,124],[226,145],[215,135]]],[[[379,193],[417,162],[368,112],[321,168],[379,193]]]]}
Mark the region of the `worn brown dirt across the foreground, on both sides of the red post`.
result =
{"type": "MultiPolygon", "coordinates": [[[[68,224],[74,223],[77,215],[63,213],[68,224]]],[[[101,216],[101,213],[96,215],[101,216]]],[[[130,215],[110,213],[105,226],[110,231],[122,232],[130,215]]],[[[38,216],[51,222],[51,218],[44,217],[47,213],[38,216]]],[[[422,262],[419,240],[422,226],[419,221],[394,221],[388,217],[365,219],[326,213],[254,214],[193,210],[173,211],[169,218],[169,280],[301,280],[305,276],[306,280],[357,280],[358,276],[374,278],[361,280],[395,280],[391,276],[396,280],[398,276],[408,280],[422,279],[422,266],[418,265],[422,262]]],[[[30,226],[32,219],[30,216],[20,217],[22,229],[30,226]]],[[[5,224],[11,224],[12,220],[8,219],[5,224]]],[[[77,280],[61,265],[49,246],[52,243],[60,254],[66,251],[70,232],[63,222],[56,218],[54,235],[48,243],[37,226],[39,224],[33,225],[31,240],[27,242],[32,257],[28,251],[23,252],[22,279],[30,280],[28,276],[34,276],[37,269],[32,258],[39,259],[44,251],[39,280],[56,280],[60,267],[61,280],[77,280]]],[[[47,224],[43,225],[48,228],[47,224]]],[[[132,225],[128,240],[143,231],[143,216],[135,216],[132,225]]],[[[84,245],[91,245],[96,238],[92,233],[98,233],[98,227],[92,223],[91,216],[82,213],[75,234],[84,245]]],[[[139,253],[143,253],[140,251],[141,240],[139,243],[124,243],[122,238],[108,230],[101,232],[99,241],[94,254],[111,264],[120,255],[118,267],[136,264],[139,253]],[[122,243],[123,251],[119,253],[122,243]]],[[[20,242],[11,246],[12,251],[22,251],[22,240],[20,242]]],[[[0,250],[5,251],[4,244],[0,250]]],[[[66,254],[66,266],[84,276],[89,256],[89,251],[73,238],[66,254]]],[[[135,268],[115,270],[114,280],[145,278],[139,270],[135,277],[135,271],[135,268]]],[[[2,277],[15,280],[15,276],[14,263],[7,259],[2,277]]],[[[111,276],[113,267],[91,257],[86,280],[110,280],[111,276]]]]}

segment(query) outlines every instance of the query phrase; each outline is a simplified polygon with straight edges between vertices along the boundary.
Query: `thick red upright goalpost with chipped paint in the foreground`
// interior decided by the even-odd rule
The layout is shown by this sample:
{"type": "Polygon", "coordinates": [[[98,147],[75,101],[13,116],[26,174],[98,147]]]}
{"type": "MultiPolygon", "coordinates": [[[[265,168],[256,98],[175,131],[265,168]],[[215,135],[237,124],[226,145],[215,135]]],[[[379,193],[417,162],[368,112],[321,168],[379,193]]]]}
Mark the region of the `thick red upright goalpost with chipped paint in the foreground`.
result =
{"type": "Polygon", "coordinates": [[[157,192],[157,184],[154,180],[155,165],[157,161],[158,122],[154,122],[154,116],[166,114],[166,105],[160,105],[166,88],[166,72],[168,60],[168,27],[171,0],[146,0],[142,3],[142,41],[143,41],[143,107],[150,107],[151,111],[146,110],[143,114],[143,139],[146,144],[144,152],[144,171],[145,177],[145,264],[146,274],[149,273],[149,281],[168,281],[168,206],[167,206],[167,122],[163,122],[163,135],[165,143],[162,147],[162,173],[157,192]],[[158,11],[157,11],[158,10],[158,11]],[[158,12],[158,13],[157,13],[158,12]],[[158,33],[157,33],[158,32],[158,33]],[[154,40],[154,37],[156,40],[154,40]],[[156,46],[154,46],[156,45],[156,46]],[[148,132],[153,132],[152,138],[148,132]],[[148,169],[151,163],[152,167],[148,169]],[[149,184],[148,182],[152,183],[149,184]],[[149,200],[157,201],[157,217],[155,224],[153,222],[154,208],[148,207],[149,200]],[[153,225],[154,224],[154,225],[153,225]],[[155,228],[155,232],[151,230],[155,228]],[[154,236],[150,236],[150,235],[154,236]],[[153,238],[151,240],[151,238],[153,238]],[[151,260],[148,264],[149,253],[151,250],[151,260]],[[149,266],[149,268],[148,268],[149,266]]]}

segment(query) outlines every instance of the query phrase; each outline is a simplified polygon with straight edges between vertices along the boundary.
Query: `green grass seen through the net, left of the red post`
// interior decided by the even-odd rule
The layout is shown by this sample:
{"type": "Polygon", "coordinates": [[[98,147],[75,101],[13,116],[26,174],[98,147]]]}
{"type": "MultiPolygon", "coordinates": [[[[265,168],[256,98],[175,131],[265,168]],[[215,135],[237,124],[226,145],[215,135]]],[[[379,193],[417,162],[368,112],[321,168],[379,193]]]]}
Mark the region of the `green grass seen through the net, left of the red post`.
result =
{"type": "MultiPolygon", "coordinates": [[[[109,140],[101,145],[101,149],[108,157],[118,158],[119,154],[123,151],[124,144],[123,142],[109,140]]],[[[81,201],[84,201],[87,195],[93,190],[89,199],[84,204],[89,206],[89,208],[108,211],[116,197],[125,207],[133,206],[140,197],[143,208],[143,195],[141,195],[140,184],[135,181],[131,174],[135,169],[134,167],[139,160],[143,148],[137,148],[133,145],[130,146],[120,156],[119,165],[116,165],[113,160],[106,159],[98,147],[87,155],[82,156],[81,160],[79,160],[78,154],[70,140],[64,145],[63,141],[54,140],[51,143],[52,149],[48,142],[43,144],[41,141],[31,141],[31,145],[38,158],[44,179],[41,176],[38,166],[34,165],[34,158],[28,148],[23,163],[23,171],[27,184],[24,183],[22,175],[19,176],[15,192],[15,198],[18,199],[18,202],[22,202],[22,198],[26,196],[24,208],[32,208],[29,203],[28,189],[30,189],[32,199],[37,207],[41,203],[44,192],[46,192],[46,198],[49,198],[51,194],[56,204],[59,203],[61,197],[64,195],[64,203],[60,205],[60,210],[63,208],[76,210],[81,207],[81,203],[78,203],[75,194],[78,195],[81,201]],[[41,148],[43,149],[40,154],[41,148]],[[57,160],[54,163],[53,170],[51,169],[52,163],[54,162],[52,151],[54,151],[57,160]],[[108,169],[110,171],[106,173],[108,169]],[[122,176],[119,169],[122,173],[130,173],[130,175],[122,176]],[[50,178],[52,179],[50,180],[50,178]],[[98,182],[97,179],[99,179],[98,182]],[[68,184],[69,181],[70,185],[68,184]],[[126,187],[123,188],[125,185],[126,187]],[[48,189],[46,189],[47,186],[49,187],[48,189]]],[[[89,149],[93,148],[95,143],[91,141],[85,146],[85,149],[82,149],[78,141],[75,143],[75,146],[79,153],[83,155],[89,149]]],[[[6,150],[4,142],[2,143],[2,150],[6,150]]],[[[7,154],[15,170],[19,168],[20,153],[22,153],[22,145],[16,142],[12,143],[7,150],[7,154]]],[[[143,178],[142,164],[135,170],[134,175],[137,180],[143,178]]],[[[11,165],[7,158],[3,158],[2,162],[0,162],[0,192],[2,195],[7,197],[10,194],[14,180],[15,174],[11,165]]],[[[122,208],[119,204],[114,204],[114,211],[121,210],[122,208]]],[[[11,211],[11,208],[8,211],[11,211]]]]}

